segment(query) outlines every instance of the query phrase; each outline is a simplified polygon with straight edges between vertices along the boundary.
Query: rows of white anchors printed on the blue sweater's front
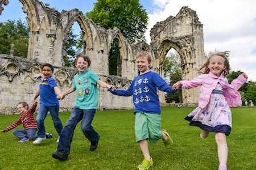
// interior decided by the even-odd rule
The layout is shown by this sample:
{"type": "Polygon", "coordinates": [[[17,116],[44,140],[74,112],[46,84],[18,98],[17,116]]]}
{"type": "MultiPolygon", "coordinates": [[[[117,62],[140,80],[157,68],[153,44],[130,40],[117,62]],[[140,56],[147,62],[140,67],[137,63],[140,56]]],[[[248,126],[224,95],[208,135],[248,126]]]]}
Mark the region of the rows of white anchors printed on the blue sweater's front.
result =
{"type": "Polygon", "coordinates": [[[138,104],[139,102],[148,102],[150,101],[150,97],[147,95],[149,92],[149,88],[146,86],[148,83],[148,79],[138,79],[134,83],[134,95],[136,98],[134,99],[134,103],[138,104]]]}

